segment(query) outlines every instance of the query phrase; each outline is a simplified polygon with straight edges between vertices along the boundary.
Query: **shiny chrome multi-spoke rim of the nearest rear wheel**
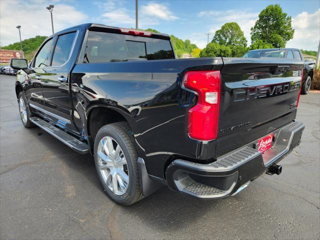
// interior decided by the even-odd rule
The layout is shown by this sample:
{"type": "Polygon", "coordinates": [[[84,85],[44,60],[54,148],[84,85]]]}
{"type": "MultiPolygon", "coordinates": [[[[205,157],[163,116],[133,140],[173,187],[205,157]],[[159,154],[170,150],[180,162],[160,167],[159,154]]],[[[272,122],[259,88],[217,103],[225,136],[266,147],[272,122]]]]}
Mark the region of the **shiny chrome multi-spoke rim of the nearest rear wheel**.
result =
{"type": "Polygon", "coordinates": [[[123,195],[129,185],[129,172],[120,145],[112,137],[102,137],[97,148],[97,158],[106,186],[115,195],[123,195]]]}

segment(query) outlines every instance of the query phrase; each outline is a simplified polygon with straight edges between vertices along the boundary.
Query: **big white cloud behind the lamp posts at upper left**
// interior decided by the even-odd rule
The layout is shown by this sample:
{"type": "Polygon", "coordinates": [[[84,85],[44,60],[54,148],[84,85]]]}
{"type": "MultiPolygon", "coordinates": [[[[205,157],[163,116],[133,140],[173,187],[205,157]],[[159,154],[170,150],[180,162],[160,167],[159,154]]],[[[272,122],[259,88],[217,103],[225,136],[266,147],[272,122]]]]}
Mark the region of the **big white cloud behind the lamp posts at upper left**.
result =
{"type": "MultiPolygon", "coordinates": [[[[34,37],[35,35],[50,35],[51,18],[45,9],[45,1],[14,1],[19,6],[16,13],[12,13],[11,1],[2,1],[0,7],[0,44],[2,46],[19,41],[16,25],[21,25],[21,38],[34,37]]],[[[53,9],[54,31],[59,31],[72,25],[85,22],[87,16],[73,6],[56,3],[53,9]],[[67,20],[66,20],[67,19],[67,20]]]]}

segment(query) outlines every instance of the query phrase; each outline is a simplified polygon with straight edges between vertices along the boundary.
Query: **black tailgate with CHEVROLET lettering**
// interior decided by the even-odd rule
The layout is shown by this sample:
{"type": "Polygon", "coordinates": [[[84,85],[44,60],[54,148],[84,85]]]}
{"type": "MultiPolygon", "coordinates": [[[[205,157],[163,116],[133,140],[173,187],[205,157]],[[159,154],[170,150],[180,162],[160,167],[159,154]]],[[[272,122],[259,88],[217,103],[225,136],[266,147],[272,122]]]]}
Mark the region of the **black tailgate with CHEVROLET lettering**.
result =
{"type": "Polygon", "coordinates": [[[223,58],[216,156],[293,121],[303,62],[223,58]]]}

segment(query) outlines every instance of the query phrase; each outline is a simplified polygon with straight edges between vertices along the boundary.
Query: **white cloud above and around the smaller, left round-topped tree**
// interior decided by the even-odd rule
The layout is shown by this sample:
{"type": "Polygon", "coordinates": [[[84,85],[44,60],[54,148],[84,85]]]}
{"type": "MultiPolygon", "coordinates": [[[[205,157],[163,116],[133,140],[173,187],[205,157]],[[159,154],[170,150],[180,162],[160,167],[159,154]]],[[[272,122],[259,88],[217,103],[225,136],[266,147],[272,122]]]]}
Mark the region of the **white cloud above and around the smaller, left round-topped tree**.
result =
{"type": "MultiPolygon", "coordinates": [[[[225,11],[215,11],[215,10],[207,10],[207,11],[200,11],[197,13],[199,17],[206,17],[210,18],[211,22],[215,22],[209,28],[208,32],[212,32],[213,34],[210,35],[209,42],[212,40],[214,32],[221,28],[221,26],[230,21],[234,21],[239,24],[241,30],[245,38],[247,39],[248,44],[250,44],[250,29],[254,25],[255,21],[258,17],[258,12],[251,12],[248,10],[225,10],[225,11]]],[[[205,42],[206,45],[206,42],[205,42]]],[[[204,46],[205,46],[204,45],[204,46]]]]}

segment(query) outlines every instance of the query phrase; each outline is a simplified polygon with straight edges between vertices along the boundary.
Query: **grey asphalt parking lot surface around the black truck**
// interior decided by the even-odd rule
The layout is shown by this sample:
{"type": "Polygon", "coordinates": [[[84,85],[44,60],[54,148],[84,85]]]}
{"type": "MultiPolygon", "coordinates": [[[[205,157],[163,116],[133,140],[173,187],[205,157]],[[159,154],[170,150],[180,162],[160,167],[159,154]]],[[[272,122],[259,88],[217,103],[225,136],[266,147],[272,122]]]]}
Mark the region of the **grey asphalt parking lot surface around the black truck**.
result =
{"type": "Polygon", "coordinates": [[[163,187],[120,206],[90,155],[20,122],[14,76],[0,75],[0,239],[319,239],[320,94],[301,95],[301,144],[282,174],[199,200],[163,187]]]}

